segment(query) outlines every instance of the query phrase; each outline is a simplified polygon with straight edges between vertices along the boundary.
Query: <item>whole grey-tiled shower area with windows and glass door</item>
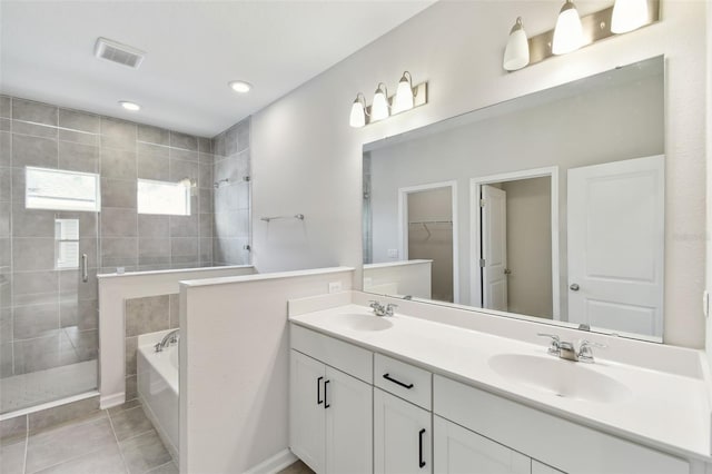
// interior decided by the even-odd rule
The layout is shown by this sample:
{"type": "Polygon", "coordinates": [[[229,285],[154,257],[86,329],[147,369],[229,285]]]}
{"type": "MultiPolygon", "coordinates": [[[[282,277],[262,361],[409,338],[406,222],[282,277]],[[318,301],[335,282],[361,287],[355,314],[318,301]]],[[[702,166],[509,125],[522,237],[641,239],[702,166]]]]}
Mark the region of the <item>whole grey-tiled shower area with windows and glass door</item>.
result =
{"type": "Polygon", "coordinates": [[[201,138],[0,96],[0,415],[96,393],[97,274],[250,263],[249,118],[201,138]]]}

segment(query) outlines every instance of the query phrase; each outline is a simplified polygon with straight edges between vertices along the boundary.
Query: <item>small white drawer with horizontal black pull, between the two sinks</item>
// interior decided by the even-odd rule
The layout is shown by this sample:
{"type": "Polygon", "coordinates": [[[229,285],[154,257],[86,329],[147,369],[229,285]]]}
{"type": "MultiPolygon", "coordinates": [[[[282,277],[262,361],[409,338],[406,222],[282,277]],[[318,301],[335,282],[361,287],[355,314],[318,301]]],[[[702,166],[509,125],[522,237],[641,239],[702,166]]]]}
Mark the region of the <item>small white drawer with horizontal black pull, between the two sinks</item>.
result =
{"type": "Polygon", "coordinates": [[[432,409],[431,381],[432,374],[427,371],[375,355],[374,385],[428,411],[432,409]]]}

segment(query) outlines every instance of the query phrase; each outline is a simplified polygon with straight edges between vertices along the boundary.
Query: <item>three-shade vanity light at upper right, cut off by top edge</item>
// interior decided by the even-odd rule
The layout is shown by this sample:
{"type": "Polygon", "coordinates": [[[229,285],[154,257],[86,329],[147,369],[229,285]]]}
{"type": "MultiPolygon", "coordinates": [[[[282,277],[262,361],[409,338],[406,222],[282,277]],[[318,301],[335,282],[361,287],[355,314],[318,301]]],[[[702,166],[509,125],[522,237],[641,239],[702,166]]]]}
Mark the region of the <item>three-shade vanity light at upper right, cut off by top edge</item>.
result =
{"type": "Polygon", "coordinates": [[[528,40],[517,18],[510,32],[502,66],[514,71],[657,21],[660,0],[615,0],[613,6],[584,17],[578,16],[571,0],[565,0],[556,27],[528,40]],[[527,57],[528,63],[524,62],[527,57]],[[522,62],[524,65],[520,66],[522,62]]]}

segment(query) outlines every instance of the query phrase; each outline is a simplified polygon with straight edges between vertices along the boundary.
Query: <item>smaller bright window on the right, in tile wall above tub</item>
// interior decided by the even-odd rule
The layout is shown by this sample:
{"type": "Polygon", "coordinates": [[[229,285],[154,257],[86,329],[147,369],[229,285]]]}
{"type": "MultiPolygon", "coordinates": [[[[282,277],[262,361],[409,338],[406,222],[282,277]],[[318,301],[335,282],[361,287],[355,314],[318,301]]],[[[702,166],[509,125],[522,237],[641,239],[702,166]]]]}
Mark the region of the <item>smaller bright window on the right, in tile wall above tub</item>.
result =
{"type": "Polygon", "coordinates": [[[190,187],[182,182],[139,179],[138,214],[190,216],[190,187]]]}

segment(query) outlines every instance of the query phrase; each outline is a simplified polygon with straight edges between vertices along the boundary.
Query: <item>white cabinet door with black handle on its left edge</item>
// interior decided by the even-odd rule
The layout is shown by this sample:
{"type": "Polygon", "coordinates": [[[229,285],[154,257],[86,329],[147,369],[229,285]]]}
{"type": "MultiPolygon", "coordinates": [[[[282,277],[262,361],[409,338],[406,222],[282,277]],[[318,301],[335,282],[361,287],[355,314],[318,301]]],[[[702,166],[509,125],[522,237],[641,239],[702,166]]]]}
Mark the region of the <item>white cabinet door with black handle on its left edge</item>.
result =
{"type": "Polygon", "coordinates": [[[327,366],[324,399],[326,472],[373,472],[373,387],[327,366]]]}

